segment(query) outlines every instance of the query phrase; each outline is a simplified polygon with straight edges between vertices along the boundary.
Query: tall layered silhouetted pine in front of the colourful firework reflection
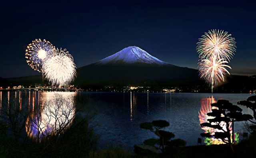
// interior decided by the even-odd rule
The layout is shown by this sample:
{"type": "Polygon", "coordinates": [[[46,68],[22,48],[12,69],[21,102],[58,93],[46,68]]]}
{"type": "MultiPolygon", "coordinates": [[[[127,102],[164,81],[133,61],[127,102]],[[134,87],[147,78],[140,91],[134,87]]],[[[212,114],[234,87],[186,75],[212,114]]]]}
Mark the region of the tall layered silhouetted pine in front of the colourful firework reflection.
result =
{"type": "Polygon", "coordinates": [[[222,141],[226,144],[234,143],[234,122],[252,119],[252,116],[248,114],[242,114],[242,109],[240,107],[232,105],[232,103],[229,103],[229,101],[226,100],[218,100],[217,103],[212,104],[212,107],[217,107],[218,109],[212,109],[212,112],[207,113],[207,115],[214,118],[208,119],[208,122],[204,122],[200,125],[210,128],[216,128],[218,130],[222,130],[222,132],[214,132],[214,134],[201,133],[200,135],[203,137],[222,139],[222,141]],[[222,122],[225,122],[226,126],[221,126],[220,124],[222,122]],[[233,142],[230,138],[230,122],[232,122],[233,142]],[[228,140],[226,140],[226,138],[228,140]]]}

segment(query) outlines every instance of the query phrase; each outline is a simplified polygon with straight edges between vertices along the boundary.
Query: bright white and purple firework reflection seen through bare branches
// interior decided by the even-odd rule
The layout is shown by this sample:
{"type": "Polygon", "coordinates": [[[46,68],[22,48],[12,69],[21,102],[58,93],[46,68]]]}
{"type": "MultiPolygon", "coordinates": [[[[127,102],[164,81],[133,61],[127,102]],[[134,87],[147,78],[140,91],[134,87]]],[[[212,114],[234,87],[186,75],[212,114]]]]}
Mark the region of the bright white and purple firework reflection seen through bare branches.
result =
{"type": "Polygon", "coordinates": [[[40,140],[60,131],[72,123],[75,113],[74,93],[46,92],[41,94],[40,109],[34,111],[27,119],[26,132],[31,138],[40,140]]]}

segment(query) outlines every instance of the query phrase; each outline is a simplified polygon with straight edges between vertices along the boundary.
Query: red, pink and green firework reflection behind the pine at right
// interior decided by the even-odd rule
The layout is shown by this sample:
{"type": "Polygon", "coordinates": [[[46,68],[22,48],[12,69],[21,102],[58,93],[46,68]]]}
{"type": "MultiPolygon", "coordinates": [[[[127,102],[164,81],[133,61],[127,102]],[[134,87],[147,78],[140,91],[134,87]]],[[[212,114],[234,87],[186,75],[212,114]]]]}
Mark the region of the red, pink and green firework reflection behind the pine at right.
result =
{"type": "MultiPolygon", "coordinates": [[[[214,97],[209,97],[209,98],[203,98],[201,99],[201,108],[200,111],[198,112],[199,114],[199,120],[200,120],[200,124],[203,122],[207,122],[207,119],[213,119],[214,117],[210,117],[207,115],[207,113],[211,113],[212,109],[218,109],[217,107],[212,107],[211,104],[212,103],[216,103],[217,101],[215,100],[214,97]]],[[[229,129],[230,129],[230,134],[232,134],[232,122],[230,122],[229,124],[229,129]]],[[[225,122],[221,122],[220,126],[222,126],[224,128],[224,130],[226,130],[226,123],[225,122]]],[[[214,134],[214,132],[222,132],[222,130],[218,130],[215,128],[210,128],[210,127],[206,127],[203,126],[202,129],[205,131],[205,133],[210,133],[211,135],[214,134]]],[[[221,139],[216,139],[216,138],[205,138],[204,143],[206,143],[207,145],[210,144],[225,144],[221,139]]]]}

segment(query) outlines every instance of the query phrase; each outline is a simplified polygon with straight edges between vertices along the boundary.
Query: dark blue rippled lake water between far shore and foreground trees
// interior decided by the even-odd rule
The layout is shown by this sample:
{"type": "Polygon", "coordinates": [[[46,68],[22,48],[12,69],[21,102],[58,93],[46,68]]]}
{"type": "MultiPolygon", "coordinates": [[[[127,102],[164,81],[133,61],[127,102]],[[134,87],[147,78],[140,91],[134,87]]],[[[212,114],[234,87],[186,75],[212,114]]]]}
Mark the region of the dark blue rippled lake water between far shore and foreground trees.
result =
{"type": "MultiPolygon", "coordinates": [[[[28,104],[34,108],[41,97],[51,97],[54,92],[22,91],[28,98],[28,104]]],[[[156,138],[144,129],[140,123],[153,120],[167,120],[170,126],[164,128],[182,138],[187,146],[197,145],[197,139],[204,132],[201,123],[207,119],[210,104],[218,99],[226,99],[236,105],[253,94],[211,94],[211,93],[100,93],[100,92],[57,92],[62,95],[76,95],[86,100],[84,106],[91,106],[97,111],[92,122],[94,130],[100,135],[99,147],[117,145],[133,150],[134,144],[142,144],[143,140],[156,138]]],[[[0,92],[1,101],[19,98],[20,92],[0,92]]],[[[20,99],[20,98],[19,98],[20,99]]],[[[20,101],[20,100],[19,100],[20,101]]],[[[2,102],[1,102],[2,106],[2,102]]],[[[252,111],[244,106],[243,113],[252,115],[252,111]]],[[[234,131],[242,131],[243,124],[235,122],[234,131]]],[[[240,138],[241,139],[241,138],[240,138]]],[[[203,140],[204,141],[204,140],[203,140]]],[[[202,143],[204,144],[204,143],[202,143]]]]}

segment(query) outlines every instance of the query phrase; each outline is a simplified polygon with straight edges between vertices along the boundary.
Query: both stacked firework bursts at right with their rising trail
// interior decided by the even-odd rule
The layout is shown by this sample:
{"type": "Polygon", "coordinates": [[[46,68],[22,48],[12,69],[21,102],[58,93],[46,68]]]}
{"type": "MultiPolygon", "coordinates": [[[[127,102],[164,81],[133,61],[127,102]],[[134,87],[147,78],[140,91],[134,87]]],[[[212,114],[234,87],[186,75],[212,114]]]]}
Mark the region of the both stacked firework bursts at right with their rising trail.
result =
{"type": "Polygon", "coordinates": [[[235,39],[231,34],[223,30],[209,30],[198,41],[197,52],[199,54],[200,77],[212,86],[225,81],[226,73],[230,74],[226,65],[236,51],[235,39]]]}

